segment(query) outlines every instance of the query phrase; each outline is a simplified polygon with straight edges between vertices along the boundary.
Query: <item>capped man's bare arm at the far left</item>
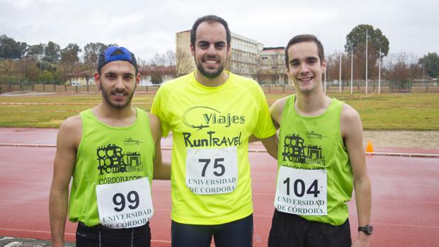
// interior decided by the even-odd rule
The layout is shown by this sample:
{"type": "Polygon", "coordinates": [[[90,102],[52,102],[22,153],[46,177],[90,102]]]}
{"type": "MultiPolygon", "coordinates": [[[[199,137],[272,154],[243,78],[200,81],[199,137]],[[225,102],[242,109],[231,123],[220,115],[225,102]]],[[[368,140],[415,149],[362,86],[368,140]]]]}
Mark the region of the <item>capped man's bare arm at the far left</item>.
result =
{"type": "Polygon", "coordinates": [[[76,161],[76,149],[81,140],[81,129],[81,117],[74,116],[63,122],[58,130],[57,153],[49,197],[50,231],[52,246],[55,247],[64,246],[69,183],[76,161]]]}

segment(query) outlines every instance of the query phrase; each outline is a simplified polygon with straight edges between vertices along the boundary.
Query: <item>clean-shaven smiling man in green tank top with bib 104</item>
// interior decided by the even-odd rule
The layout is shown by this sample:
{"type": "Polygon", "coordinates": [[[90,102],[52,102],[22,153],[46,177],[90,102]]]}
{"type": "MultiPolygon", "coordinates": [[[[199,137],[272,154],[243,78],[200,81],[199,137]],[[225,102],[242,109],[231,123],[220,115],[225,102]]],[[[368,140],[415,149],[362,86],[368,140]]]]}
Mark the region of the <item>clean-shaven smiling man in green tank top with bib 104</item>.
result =
{"type": "Polygon", "coordinates": [[[268,246],[369,246],[372,203],[360,115],[324,94],[324,49],[314,35],[292,38],[285,64],[296,93],[270,108],[280,132],[268,246]],[[346,202],[353,189],[360,227],[352,243],[346,202]]]}

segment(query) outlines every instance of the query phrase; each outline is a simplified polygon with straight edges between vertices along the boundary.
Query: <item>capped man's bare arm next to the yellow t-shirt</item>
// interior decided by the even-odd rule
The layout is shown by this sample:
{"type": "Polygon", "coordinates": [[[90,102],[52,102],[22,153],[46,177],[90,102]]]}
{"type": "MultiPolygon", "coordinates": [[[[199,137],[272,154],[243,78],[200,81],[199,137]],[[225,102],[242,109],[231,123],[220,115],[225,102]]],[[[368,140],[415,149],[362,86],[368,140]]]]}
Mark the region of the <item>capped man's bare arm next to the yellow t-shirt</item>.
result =
{"type": "Polygon", "coordinates": [[[159,180],[171,179],[171,163],[163,161],[161,156],[161,125],[159,117],[148,113],[149,125],[151,126],[152,138],[156,144],[156,154],[154,155],[154,178],[159,180]]]}

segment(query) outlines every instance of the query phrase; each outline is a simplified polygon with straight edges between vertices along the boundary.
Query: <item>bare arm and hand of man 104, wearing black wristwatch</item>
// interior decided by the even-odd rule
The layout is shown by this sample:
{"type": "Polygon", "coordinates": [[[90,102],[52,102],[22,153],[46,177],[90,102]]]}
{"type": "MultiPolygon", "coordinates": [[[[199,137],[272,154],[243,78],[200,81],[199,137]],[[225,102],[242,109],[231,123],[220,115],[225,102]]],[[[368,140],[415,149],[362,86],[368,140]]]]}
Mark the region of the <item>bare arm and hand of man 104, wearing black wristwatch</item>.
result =
{"type": "MultiPolygon", "coordinates": [[[[350,105],[343,105],[341,113],[341,134],[348,149],[350,166],[354,176],[355,202],[357,205],[358,226],[370,224],[372,209],[372,192],[370,178],[367,173],[365,151],[363,149],[363,125],[360,115],[350,105]]],[[[353,246],[369,246],[370,236],[363,231],[358,232],[358,238],[353,246]]]]}

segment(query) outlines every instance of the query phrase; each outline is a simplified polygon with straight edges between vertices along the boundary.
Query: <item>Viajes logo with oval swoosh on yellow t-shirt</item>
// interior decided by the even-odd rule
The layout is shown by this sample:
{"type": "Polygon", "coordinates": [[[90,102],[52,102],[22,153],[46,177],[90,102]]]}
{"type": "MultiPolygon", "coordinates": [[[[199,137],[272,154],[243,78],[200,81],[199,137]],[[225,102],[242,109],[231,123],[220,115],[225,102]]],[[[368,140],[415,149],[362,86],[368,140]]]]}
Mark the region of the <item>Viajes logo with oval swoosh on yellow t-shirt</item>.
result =
{"type": "Polygon", "coordinates": [[[234,124],[244,124],[245,116],[222,114],[219,110],[207,106],[194,106],[183,114],[183,123],[193,129],[203,130],[210,125],[224,125],[230,127],[234,124]]]}

